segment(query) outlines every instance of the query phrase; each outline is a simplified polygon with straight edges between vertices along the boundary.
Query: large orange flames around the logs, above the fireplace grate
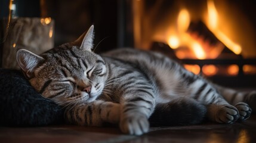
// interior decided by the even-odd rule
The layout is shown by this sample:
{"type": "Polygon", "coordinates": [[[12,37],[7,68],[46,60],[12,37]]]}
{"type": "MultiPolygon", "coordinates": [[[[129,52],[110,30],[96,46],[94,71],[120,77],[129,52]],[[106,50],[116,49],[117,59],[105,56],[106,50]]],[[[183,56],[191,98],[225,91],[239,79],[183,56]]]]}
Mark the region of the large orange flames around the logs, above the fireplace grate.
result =
{"type": "Polygon", "coordinates": [[[166,38],[166,43],[175,49],[177,57],[182,58],[216,58],[223,50],[224,46],[227,46],[235,54],[241,54],[242,48],[238,43],[233,42],[226,33],[222,32],[219,28],[221,21],[218,18],[217,8],[215,7],[213,0],[207,1],[207,21],[206,26],[214,33],[215,37],[220,41],[215,45],[211,45],[205,39],[196,35],[196,33],[188,33],[187,29],[192,20],[189,11],[186,8],[181,8],[177,15],[177,22],[175,23],[175,30],[169,33],[166,38]],[[224,45],[223,45],[224,44],[224,45]],[[181,54],[183,50],[176,50],[179,47],[187,47],[190,52],[181,54]]]}

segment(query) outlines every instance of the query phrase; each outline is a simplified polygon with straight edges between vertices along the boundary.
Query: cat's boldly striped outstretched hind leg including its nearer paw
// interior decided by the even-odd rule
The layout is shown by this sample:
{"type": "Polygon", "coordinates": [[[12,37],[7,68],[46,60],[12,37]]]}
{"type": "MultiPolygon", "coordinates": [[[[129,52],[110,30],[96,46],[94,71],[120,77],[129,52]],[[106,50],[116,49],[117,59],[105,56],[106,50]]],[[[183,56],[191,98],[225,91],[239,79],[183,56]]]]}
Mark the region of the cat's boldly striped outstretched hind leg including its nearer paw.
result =
{"type": "Polygon", "coordinates": [[[238,108],[230,105],[205,79],[192,77],[188,88],[189,94],[195,100],[206,105],[209,120],[218,123],[234,123],[239,119],[238,108]]]}

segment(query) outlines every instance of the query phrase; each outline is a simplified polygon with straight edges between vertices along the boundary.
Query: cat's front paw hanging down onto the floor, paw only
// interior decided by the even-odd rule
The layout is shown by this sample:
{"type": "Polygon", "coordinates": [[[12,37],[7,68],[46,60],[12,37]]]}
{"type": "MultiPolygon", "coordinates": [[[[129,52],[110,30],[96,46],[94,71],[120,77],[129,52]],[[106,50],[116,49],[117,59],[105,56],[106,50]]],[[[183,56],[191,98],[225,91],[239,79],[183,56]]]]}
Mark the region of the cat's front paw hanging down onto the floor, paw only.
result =
{"type": "Polygon", "coordinates": [[[149,132],[149,121],[146,116],[141,114],[121,117],[120,129],[129,135],[142,135],[149,132]]]}

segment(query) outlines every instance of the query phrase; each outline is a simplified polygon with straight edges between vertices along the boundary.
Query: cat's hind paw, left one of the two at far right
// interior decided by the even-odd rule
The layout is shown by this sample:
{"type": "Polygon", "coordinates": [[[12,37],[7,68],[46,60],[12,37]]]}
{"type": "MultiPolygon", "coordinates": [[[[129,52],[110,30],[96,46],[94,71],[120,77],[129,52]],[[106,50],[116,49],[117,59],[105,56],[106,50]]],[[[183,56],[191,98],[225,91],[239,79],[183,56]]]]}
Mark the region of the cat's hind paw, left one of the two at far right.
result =
{"type": "Polygon", "coordinates": [[[232,105],[224,105],[217,113],[216,121],[218,123],[234,123],[239,119],[239,111],[232,105]]]}

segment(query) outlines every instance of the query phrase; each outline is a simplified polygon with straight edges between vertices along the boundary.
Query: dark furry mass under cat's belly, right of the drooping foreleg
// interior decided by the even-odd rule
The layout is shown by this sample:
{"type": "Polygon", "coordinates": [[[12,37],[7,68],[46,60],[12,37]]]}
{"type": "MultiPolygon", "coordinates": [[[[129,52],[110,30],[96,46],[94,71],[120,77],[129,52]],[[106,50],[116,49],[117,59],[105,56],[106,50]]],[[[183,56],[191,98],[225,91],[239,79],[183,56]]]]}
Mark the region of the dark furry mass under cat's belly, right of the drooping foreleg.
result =
{"type": "Polygon", "coordinates": [[[206,107],[192,98],[179,98],[157,104],[149,118],[150,126],[196,125],[206,116],[206,107]]]}

